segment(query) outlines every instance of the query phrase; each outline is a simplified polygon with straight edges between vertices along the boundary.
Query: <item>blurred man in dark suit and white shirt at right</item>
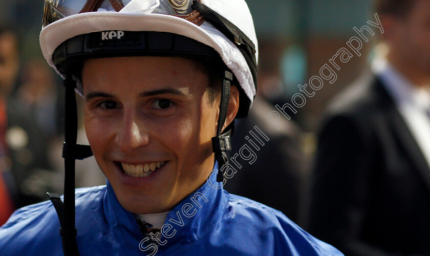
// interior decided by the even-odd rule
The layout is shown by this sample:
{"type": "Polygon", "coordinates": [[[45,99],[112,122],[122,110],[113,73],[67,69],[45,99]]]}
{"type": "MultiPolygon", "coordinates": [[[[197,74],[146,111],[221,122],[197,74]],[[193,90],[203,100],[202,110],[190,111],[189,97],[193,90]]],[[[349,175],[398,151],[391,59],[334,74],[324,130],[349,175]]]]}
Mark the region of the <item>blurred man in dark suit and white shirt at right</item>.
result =
{"type": "Polygon", "coordinates": [[[309,229],[347,255],[429,255],[430,9],[376,7],[389,52],[329,108],[309,229]]]}

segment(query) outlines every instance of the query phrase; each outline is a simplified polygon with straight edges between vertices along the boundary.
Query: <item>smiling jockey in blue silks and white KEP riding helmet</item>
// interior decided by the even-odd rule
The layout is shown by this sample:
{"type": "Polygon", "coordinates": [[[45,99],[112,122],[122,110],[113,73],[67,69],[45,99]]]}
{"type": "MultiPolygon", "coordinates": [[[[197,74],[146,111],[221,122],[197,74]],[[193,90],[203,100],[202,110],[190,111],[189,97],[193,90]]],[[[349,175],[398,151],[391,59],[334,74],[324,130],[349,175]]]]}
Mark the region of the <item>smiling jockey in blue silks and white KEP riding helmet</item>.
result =
{"type": "Polygon", "coordinates": [[[255,95],[258,51],[244,1],[48,1],[45,11],[42,51],[66,77],[64,204],[49,194],[55,209],[15,212],[0,229],[2,254],[61,254],[60,226],[67,255],[341,254],[217,183],[229,174],[233,119],[255,95]],[[109,181],[75,196],[74,160],[91,155],[75,145],[76,84],[109,181]]]}

